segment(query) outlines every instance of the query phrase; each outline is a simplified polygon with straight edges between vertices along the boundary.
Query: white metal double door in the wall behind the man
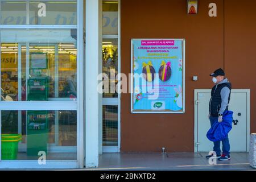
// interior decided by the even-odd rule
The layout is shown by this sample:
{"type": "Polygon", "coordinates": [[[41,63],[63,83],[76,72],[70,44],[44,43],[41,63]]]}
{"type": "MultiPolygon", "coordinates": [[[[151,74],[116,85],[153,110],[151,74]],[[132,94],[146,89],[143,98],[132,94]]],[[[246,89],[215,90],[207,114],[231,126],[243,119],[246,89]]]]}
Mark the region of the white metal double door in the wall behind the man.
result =
{"type": "MultiPolygon", "coordinates": [[[[210,129],[209,113],[210,90],[195,90],[195,152],[213,150],[213,142],[206,137],[210,129]]],[[[246,152],[249,142],[249,90],[233,89],[229,110],[233,114],[233,129],[229,133],[230,151],[246,152]],[[235,124],[235,121],[238,121],[235,124]]]]}

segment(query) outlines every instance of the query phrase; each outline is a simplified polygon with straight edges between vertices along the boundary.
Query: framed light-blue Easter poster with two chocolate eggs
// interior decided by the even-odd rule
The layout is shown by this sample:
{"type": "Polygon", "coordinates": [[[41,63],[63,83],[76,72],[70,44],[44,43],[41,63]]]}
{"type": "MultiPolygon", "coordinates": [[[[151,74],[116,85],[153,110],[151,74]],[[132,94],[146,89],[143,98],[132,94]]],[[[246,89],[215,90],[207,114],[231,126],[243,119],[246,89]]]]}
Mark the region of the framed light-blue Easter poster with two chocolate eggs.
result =
{"type": "Polygon", "coordinates": [[[131,39],[131,113],[185,112],[185,40],[131,39]]]}

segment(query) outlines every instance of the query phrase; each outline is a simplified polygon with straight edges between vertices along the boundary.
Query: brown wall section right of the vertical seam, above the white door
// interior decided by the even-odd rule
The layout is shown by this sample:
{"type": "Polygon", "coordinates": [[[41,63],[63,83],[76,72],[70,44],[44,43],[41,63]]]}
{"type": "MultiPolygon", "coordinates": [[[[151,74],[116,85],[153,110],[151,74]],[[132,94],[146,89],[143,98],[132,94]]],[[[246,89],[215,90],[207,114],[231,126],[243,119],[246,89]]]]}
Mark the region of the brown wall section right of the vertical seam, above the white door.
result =
{"type": "Polygon", "coordinates": [[[256,1],[225,1],[225,71],[234,88],[250,90],[251,133],[256,133],[256,1]]]}

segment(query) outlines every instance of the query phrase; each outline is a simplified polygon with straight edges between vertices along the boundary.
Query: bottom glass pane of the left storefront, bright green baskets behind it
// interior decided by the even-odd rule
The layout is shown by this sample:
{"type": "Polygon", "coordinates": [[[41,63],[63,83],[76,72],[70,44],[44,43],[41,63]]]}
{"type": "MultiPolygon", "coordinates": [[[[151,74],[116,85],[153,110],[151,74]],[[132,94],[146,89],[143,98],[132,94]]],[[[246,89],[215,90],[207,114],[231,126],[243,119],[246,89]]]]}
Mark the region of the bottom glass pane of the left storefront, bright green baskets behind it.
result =
{"type": "Polygon", "coordinates": [[[38,160],[39,151],[46,152],[47,160],[76,160],[76,115],[68,110],[2,110],[2,160],[38,160]]]}

